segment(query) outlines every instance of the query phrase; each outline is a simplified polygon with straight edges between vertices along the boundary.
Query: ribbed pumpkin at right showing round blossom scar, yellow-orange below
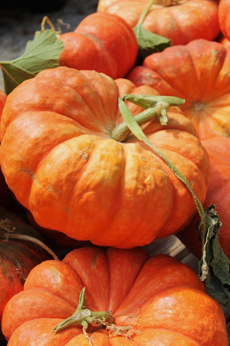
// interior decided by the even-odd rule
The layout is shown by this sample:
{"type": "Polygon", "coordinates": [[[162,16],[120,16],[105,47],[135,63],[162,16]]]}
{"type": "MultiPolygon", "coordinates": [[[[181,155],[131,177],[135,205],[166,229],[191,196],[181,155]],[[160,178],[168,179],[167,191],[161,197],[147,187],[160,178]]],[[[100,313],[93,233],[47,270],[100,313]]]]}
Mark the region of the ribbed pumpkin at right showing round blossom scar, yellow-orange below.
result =
{"type": "Polygon", "coordinates": [[[148,56],[128,77],[160,94],[186,99],[181,107],[201,140],[230,135],[230,51],[199,39],[148,56]]]}

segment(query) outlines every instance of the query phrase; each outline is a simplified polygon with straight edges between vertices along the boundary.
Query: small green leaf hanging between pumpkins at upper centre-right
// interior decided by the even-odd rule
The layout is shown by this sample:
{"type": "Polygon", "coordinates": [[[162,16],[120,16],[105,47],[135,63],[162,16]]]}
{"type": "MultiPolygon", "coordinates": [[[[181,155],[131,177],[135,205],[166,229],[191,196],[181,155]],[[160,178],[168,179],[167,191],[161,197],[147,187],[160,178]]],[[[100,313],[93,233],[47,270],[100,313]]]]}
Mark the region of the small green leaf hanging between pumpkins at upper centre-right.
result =
{"type": "Polygon", "coordinates": [[[142,23],[134,27],[133,31],[139,44],[139,60],[142,59],[143,61],[148,55],[162,52],[165,48],[171,46],[169,38],[151,33],[143,27],[142,23]]]}

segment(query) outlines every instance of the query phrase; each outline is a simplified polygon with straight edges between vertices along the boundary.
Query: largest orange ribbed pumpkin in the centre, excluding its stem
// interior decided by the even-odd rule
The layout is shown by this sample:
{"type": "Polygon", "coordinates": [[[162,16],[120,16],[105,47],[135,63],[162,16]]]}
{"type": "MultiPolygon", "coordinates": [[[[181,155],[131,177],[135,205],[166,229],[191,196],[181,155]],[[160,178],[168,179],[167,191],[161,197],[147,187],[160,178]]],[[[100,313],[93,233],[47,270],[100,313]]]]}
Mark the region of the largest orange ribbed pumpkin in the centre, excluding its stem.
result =
{"type": "MultiPolygon", "coordinates": [[[[156,90],[67,67],[44,70],[15,90],[2,115],[0,162],[8,186],[40,226],[132,248],[191,221],[195,203],[162,159],[132,135],[123,143],[111,139],[122,121],[118,95],[156,90]]],[[[133,115],[141,110],[128,106],[133,115]]],[[[208,155],[179,108],[171,108],[164,128],[155,118],[143,130],[204,201],[208,155]]]]}

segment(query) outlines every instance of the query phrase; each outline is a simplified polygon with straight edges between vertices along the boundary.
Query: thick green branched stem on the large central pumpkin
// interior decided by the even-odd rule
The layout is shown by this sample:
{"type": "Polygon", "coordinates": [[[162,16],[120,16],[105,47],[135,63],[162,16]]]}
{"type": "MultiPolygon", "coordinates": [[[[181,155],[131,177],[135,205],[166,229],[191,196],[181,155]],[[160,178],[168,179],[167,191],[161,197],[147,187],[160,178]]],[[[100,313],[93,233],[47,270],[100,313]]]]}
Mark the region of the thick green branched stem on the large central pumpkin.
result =
{"type": "MultiPolygon", "coordinates": [[[[125,95],[122,100],[130,101],[145,109],[134,117],[139,126],[156,117],[159,117],[161,125],[166,125],[168,121],[167,112],[170,105],[179,106],[185,102],[185,100],[173,96],[132,94],[125,95]]],[[[117,142],[124,142],[131,132],[127,123],[124,121],[112,130],[111,137],[117,140],[117,142]]]]}

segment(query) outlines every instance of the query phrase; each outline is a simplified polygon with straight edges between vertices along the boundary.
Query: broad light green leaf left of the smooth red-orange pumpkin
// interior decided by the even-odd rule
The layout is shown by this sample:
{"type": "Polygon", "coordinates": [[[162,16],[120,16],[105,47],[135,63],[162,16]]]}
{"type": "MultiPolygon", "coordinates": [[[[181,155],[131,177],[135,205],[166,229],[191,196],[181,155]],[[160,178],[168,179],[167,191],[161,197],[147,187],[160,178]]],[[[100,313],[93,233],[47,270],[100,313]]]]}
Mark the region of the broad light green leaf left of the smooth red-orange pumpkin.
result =
{"type": "Polygon", "coordinates": [[[64,43],[52,29],[38,31],[29,41],[25,53],[12,61],[0,61],[4,91],[9,94],[24,80],[33,78],[38,72],[59,66],[59,55],[64,43]]]}

